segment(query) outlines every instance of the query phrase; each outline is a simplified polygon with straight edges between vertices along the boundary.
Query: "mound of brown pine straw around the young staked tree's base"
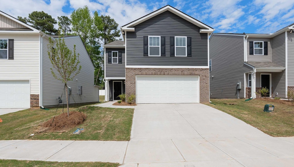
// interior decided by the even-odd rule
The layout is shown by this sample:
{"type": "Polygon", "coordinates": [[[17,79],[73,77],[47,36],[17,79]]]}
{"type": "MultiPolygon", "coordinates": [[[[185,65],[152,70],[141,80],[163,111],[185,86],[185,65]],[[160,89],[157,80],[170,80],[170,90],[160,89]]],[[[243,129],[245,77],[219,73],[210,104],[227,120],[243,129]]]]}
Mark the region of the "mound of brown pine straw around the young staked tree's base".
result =
{"type": "Polygon", "coordinates": [[[48,121],[44,122],[41,127],[39,128],[39,132],[46,132],[46,131],[62,131],[69,128],[76,127],[83,123],[86,119],[86,114],[83,112],[72,111],[69,112],[69,117],[67,117],[67,113],[62,113],[54,118],[49,119],[48,121]],[[53,122],[52,122],[53,121],[53,122]]]}

